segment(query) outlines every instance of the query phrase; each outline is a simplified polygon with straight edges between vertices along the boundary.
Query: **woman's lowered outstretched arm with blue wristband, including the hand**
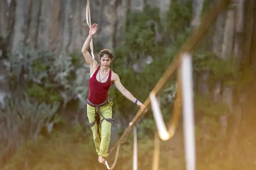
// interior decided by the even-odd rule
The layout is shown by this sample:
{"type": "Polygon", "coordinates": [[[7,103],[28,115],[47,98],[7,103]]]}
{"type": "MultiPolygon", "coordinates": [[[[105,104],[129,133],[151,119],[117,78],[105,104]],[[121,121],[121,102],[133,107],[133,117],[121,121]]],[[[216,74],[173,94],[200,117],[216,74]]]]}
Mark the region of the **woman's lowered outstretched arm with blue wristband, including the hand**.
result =
{"type": "MultiPolygon", "coordinates": [[[[114,79],[114,84],[116,88],[119,90],[119,92],[121,92],[122,95],[125,96],[127,99],[129,99],[131,102],[135,103],[136,98],[128,90],[126,90],[125,87],[123,87],[120,81],[120,78],[116,73],[113,73],[113,79],[114,79]]],[[[142,110],[145,108],[145,106],[139,100],[137,101],[137,105],[140,108],[142,108],[142,110]]],[[[147,111],[147,109],[145,109],[145,111],[147,111]]]]}

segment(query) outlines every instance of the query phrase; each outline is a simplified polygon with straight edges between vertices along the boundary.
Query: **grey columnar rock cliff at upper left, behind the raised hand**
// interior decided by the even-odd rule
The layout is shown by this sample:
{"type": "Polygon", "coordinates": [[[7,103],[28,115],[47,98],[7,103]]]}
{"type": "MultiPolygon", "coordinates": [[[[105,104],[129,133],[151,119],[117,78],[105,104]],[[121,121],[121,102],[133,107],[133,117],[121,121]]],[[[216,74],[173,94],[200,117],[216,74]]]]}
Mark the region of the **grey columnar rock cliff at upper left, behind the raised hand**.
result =
{"type": "Polygon", "coordinates": [[[55,53],[80,50],[88,34],[87,2],[91,23],[99,24],[95,44],[110,49],[118,42],[129,11],[149,5],[164,13],[170,4],[170,0],[1,0],[0,36],[11,51],[19,45],[55,53]]]}

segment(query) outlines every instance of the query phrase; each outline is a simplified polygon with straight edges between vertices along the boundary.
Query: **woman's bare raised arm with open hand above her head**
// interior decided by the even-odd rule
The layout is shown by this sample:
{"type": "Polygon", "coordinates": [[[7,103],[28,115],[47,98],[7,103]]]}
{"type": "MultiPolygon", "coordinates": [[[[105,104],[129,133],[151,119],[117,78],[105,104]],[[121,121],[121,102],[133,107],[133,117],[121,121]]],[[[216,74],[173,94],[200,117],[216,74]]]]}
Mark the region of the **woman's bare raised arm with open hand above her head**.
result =
{"type": "Polygon", "coordinates": [[[85,40],[84,45],[81,50],[82,54],[84,56],[85,62],[90,66],[97,64],[97,62],[91,57],[90,53],[88,52],[91,39],[93,38],[93,35],[96,33],[96,31],[97,31],[97,24],[91,25],[89,35],[88,35],[87,39],[85,40]]]}

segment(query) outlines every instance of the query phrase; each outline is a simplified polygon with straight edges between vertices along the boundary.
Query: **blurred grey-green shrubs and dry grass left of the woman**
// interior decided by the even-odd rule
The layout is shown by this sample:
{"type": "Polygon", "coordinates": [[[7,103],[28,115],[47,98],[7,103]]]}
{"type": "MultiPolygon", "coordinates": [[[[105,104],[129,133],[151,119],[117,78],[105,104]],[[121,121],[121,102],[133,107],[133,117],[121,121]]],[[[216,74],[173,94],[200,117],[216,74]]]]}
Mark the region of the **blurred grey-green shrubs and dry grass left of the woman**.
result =
{"type": "Polygon", "coordinates": [[[84,80],[78,80],[83,68],[75,53],[56,57],[49,51],[21,48],[7,57],[12,95],[0,111],[1,135],[5,136],[0,146],[6,147],[1,156],[12,155],[25,140],[37,140],[46,125],[60,121],[60,107],[87,93],[84,80]]]}

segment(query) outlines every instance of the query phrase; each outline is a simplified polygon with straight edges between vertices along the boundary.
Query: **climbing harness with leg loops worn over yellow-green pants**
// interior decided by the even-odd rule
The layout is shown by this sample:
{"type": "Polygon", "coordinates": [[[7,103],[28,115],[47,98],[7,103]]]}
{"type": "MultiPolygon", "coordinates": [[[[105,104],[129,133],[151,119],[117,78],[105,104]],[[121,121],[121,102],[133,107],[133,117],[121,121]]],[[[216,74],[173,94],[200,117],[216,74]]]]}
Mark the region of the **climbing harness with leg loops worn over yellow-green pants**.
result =
{"type": "Polygon", "coordinates": [[[97,123],[97,133],[99,134],[99,139],[101,140],[101,134],[100,134],[100,131],[99,131],[99,125],[101,125],[103,120],[106,120],[107,122],[110,122],[110,123],[113,123],[115,120],[112,119],[112,118],[105,118],[101,114],[101,112],[99,111],[99,108],[102,107],[102,106],[108,105],[108,104],[110,104],[110,106],[113,107],[113,102],[112,102],[111,98],[108,96],[108,98],[104,102],[102,102],[101,104],[98,104],[98,105],[97,104],[93,104],[88,99],[86,100],[86,103],[88,103],[92,107],[95,107],[94,121],[90,122],[88,124],[88,126],[90,126],[90,128],[91,128],[95,123],[97,123]],[[102,120],[100,120],[101,119],[100,115],[102,116],[102,120]]]}

